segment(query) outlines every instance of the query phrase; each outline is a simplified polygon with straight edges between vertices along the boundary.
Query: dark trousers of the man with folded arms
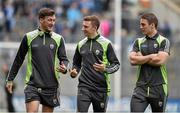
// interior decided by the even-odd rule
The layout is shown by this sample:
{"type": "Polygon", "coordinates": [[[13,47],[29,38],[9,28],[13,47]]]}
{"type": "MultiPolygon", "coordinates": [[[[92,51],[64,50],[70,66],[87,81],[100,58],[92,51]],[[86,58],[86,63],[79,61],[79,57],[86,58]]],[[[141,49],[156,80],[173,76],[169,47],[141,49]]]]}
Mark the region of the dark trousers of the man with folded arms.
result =
{"type": "Polygon", "coordinates": [[[131,98],[131,112],[144,112],[148,105],[152,112],[164,112],[168,98],[165,92],[163,85],[136,87],[131,98]]]}

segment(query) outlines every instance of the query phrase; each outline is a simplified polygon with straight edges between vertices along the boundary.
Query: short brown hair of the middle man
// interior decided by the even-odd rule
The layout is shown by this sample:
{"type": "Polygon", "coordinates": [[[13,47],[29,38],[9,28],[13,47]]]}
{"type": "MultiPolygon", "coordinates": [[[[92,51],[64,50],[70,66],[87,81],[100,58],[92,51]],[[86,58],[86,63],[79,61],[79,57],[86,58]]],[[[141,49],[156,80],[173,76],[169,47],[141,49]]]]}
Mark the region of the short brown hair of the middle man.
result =
{"type": "Polygon", "coordinates": [[[100,21],[96,15],[85,16],[83,20],[84,21],[91,21],[92,25],[96,26],[97,30],[99,29],[100,21]]]}

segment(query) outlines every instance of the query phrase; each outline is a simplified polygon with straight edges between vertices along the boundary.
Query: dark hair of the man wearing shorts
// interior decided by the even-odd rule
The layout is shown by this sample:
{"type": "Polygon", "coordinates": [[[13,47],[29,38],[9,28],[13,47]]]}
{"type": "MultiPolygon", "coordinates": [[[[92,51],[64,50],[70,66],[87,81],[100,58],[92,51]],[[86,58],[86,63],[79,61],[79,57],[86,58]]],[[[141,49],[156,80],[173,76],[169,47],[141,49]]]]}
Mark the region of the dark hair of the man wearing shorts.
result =
{"type": "Polygon", "coordinates": [[[53,16],[53,15],[55,15],[55,11],[53,9],[51,9],[51,8],[46,8],[45,7],[45,8],[41,8],[39,10],[38,15],[39,15],[39,19],[44,18],[46,16],[53,16]]]}

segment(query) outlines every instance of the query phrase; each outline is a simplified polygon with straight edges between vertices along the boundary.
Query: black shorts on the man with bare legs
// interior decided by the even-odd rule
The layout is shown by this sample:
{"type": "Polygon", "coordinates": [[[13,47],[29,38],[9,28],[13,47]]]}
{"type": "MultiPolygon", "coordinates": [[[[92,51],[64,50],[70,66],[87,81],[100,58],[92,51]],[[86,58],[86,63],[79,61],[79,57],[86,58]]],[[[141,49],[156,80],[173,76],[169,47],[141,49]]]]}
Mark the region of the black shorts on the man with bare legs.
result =
{"type": "Polygon", "coordinates": [[[42,105],[56,107],[60,105],[60,91],[58,88],[41,89],[27,85],[24,89],[25,102],[39,101],[42,105]]]}

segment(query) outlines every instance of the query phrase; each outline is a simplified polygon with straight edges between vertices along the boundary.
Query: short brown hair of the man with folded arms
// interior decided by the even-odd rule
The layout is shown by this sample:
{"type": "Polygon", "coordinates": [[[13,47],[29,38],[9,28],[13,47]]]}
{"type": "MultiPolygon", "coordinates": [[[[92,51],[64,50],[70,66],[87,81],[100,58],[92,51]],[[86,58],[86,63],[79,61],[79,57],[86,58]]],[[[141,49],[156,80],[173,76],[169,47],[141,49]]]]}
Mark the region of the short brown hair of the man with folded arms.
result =
{"type": "Polygon", "coordinates": [[[155,16],[155,14],[153,13],[145,13],[141,16],[141,19],[146,19],[148,21],[149,24],[154,23],[155,24],[155,28],[157,29],[158,26],[158,19],[155,16]]]}

